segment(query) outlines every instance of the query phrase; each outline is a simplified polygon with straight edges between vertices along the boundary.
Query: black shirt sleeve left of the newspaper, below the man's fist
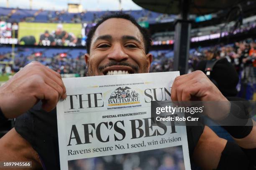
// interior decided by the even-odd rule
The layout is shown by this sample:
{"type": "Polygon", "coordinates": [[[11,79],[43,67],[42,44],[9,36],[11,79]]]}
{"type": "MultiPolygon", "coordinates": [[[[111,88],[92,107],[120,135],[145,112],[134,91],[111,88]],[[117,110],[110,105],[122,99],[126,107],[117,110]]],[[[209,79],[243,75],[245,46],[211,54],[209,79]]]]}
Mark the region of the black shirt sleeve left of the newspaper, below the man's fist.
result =
{"type": "Polygon", "coordinates": [[[17,117],[15,130],[36,150],[44,169],[58,170],[60,165],[56,108],[45,112],[41,105],[38,102],[31,110],[17,117]]]}

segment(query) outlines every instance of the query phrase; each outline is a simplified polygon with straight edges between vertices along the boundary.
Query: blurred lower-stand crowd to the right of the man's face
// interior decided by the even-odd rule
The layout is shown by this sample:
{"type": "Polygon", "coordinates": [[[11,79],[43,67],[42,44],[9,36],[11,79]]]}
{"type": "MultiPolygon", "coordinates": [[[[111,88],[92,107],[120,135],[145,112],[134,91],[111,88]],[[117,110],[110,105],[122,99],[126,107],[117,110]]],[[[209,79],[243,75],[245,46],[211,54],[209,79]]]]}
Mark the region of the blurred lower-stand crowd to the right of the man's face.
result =
{"type": "MultiPolygon", "coordinates": [[[[238,73],[242,73],[246,82],[256,83],[256,41],[248,39],[241,42],[235,42],[230,45],[219,47],[198,47],[189,50],[188,71],[196,70],[197,64],[201,60],[206,60],[205,53],[211,50],[216,58],[227,58],[238,73]]],[[[151,72],[172,71],[173,56],[172,50],[151,51],[154,55],[154,61],[151,65],[151,72]]]]}

